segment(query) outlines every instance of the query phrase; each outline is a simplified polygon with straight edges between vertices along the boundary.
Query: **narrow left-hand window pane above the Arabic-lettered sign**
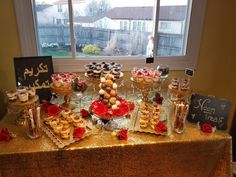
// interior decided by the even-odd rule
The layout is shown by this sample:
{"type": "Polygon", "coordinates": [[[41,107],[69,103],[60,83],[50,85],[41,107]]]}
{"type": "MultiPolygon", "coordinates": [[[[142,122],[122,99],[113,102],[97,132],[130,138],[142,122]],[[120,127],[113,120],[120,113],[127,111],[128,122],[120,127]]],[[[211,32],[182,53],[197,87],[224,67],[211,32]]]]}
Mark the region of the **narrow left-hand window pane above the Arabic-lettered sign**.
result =
{"type": "Polygon", "coordinates": [[[67,0],[35,0],[40,55],[71,56],[67,0]]]}

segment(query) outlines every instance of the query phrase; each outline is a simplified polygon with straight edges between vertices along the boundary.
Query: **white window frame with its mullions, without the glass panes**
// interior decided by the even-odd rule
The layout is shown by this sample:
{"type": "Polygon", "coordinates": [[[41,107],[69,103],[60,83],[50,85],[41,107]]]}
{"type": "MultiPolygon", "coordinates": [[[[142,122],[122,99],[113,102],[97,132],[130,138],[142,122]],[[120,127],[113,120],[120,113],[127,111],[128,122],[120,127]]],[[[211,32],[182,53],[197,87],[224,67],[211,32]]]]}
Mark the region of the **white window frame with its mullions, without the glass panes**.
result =
{"type": "MultiPolygon", "coordinates": [[[[72,57],[53,57],[53,65],[55,72],[79,72],[84,71],[83,66],[92,61],[115,61],[123,64],[123,70],[129,71],[134,66],[149,66],[156,67],[159,63],[169,65],[172,70],[183,70],[185,68],[197,69],[197,63],[199,58],[199,49],[201,43],[201,34],[204,23],[204,16],[206,10],[207,0],[190,0],[192,3],[192,9],[189,9],[188,14],[191,12],[191,16],[186,24],[189,24],[188,36],[186,38],[186,50],[185,56],[169,56],[161,57],[156,56],[157,49],[157,37],[154,36],[154,63],[146,64],[145,56],[119,56],[119,57],[79,57],[76,58],[75,53],[72,52],[72,57]],[[190,20],[191,19],[191,20],[190,20]],[[189,23],[190,21],[190,23],[189,23]]],[[[37,56],[39,54],[39,47],[37,46],[37,29],[35,29],[34,13],[32,8],[34,7],[33,1],[30,0],[14,0],[15,11],[18,23],[18,31],[20,36],[21,51],[23,56],[37,56]]],[[[156,0],[156,11],[159,12],[160,0],[156,0]]],[[[72,17],[72,0],[68,0],[70,26],[73,24],[72,17]]],[[[155,14],[155,19],[159,19],[159,14],[155,14]]],[[[37,23],[37,22],[36,22],[37,23]]],[[[188,28],[188,25],[186,25],[188,28]]],[[[154,25],[155,34],[158,32],[158,23],[154,25]]],[[[74,34],[74,29],[71,27],[71,34],[74,34]]],[[[71,46],[75,47],[75,39],[71,35],[71,46]]],[[[73,49],[72,49],[73,50],[73,49]]]]}

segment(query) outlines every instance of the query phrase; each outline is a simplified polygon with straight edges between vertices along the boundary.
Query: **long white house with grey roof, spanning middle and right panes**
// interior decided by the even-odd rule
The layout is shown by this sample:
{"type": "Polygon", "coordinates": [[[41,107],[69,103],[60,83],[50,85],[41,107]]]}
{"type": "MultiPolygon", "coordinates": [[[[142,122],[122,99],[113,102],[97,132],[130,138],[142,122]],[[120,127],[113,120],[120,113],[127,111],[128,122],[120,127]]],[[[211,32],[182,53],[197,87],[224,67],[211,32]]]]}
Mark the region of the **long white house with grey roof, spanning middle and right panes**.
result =
{"type": "MultiPolygon", "coordinates": [[[[183,33],[185,8],[185,6],[161,6],[159,32],[183,33]]],[[[152,32],[152,19],[153,7],[116,7],[100,17],[79,16],[78,24],[83,27],[152,32]]]]}

